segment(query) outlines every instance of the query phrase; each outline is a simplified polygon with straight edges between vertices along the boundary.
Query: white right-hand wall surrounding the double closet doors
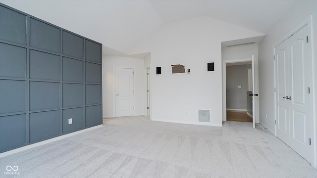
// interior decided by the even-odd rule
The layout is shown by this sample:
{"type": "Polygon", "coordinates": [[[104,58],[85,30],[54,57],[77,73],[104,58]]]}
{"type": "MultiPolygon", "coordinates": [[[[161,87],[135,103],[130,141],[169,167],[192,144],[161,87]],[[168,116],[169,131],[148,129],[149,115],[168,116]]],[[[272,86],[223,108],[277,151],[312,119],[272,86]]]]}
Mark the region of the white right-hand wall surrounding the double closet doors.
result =
{"type": "MultiPolygon", "coordinates": [[[[283,19],[276,24],[273,29],[264,37],[259,44],[259,99],[260,99],[260,122],[267,129],[274,133],[274,69],[273,69],[273,47],[276,43],[286,38],[286,35],[307,19],[310,15],[313,17],[313,82],[314,82],[314,137],[315,147],[315,168],[317,168],[317,0],[300,0],[285,14],[283,19]],[[265,118],[267,113],[267,118],[265,118]]],[[[314,163],[313,163],[314,166],[314,163]]]]}

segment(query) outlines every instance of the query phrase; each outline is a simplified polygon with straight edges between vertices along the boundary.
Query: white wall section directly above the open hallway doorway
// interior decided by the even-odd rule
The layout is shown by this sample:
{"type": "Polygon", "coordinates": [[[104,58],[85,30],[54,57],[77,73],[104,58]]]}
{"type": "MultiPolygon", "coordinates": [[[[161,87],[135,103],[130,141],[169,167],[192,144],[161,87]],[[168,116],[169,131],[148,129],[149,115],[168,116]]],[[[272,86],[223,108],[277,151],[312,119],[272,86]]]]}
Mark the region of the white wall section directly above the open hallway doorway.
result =
{"type": "Polygon", "coordinates": [[[222,60],[258,57],[258,44],[223,47],[221,54],[222,60]]]}

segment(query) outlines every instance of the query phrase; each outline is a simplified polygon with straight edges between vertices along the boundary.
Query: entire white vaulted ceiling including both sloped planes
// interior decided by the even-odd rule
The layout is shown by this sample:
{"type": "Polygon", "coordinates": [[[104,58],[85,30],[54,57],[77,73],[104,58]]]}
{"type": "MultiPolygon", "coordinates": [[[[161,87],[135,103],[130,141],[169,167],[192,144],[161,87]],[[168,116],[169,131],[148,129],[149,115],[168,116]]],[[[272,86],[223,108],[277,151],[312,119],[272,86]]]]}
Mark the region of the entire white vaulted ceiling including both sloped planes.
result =
{"type": "Polygon", "coordinates": [[[126,54],[165,24],[203,15],[266,34],[295,1],[0,0],[126,54]]]}

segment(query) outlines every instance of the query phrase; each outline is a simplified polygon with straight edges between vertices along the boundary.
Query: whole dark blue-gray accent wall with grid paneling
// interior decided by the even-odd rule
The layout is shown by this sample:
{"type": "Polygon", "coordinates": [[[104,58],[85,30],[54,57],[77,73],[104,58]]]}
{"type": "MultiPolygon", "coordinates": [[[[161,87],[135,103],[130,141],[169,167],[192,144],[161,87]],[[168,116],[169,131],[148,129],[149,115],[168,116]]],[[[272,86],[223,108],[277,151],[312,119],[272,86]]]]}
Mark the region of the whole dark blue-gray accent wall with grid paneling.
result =
{"type": "Polygon", "coordinates": [[[101,71],[102,44],[0,3],[0,153],[102,124],[101,71]]]}

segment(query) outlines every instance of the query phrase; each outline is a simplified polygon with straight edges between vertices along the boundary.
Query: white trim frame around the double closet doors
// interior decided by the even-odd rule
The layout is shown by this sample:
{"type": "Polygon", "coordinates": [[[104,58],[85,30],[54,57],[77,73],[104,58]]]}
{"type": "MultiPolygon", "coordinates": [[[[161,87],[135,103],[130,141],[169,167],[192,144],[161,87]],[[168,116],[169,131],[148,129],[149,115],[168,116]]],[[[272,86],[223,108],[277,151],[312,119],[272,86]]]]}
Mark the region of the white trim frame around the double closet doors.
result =
{"type": "MultiPolygon", "coordinates": [[[[317,111],[314,109],[316,108],[316,104],[314,102],[315,98],[317,97],[316,96],[316,89],[315,89],[315,81],[317,81],[317,77],[315,77],[316,75],[316,70],[314,69],[314,51],[312,50],[313,49],[313,46],[314,46],[314,43],[313,43],[313,35],[312,35],[312,31],[313,31],[313,27],[312,27],[312,24],[313,24],[313,18],[312,18],[312,15],[310,15],[308,18],[306,18],[303,22],[301,22],[299,25],[297,25],[295,28],[293,28],[289,33],[287,33],[281,40],[277,41],[277,43],[275,43],[273,45],[273,56],[275,55],[275,48],[280,45],[281,43],[283,43],[285,40],[287,40],[288,38],[290,38],[293,34],[297,33],[298,31],[300,31],[303,27],[305,27],[306,25],[308,26],[308,35],[309,35],[309,40],[311,42],[311,45],[309,45],[309,53],[311,54],[311,64],[312,64],[312,89],[311,89],[311,93],[312,93],[312,97],[310,98],[310,116],[311,116],[311,123],[310,123],[310,130],[311,130],[311,140],[312,140],[312,146],[313,146],[313,153],[312,153],[312,156],[314,156],[313,160],[312,160],[312,166],[315,167],[317,169],[317,144],[315,143],[315,140],[316,140],[316,137],[317,137],[317,128],[316,126],[314,125],[314,123],[317,123],[317,111]],[[315,164],[315,165],[314,165],[315,164]]],[[[274,80],[273,80],[273,86],[274,86],[274,89],[276,89],[276,72],[275,72],[275,69],[276,69],[276,60],[274,59],[273,60],[273,70],[274,70],[274,80]]],[[[274,121],[273,122],[277,122],[277,112],[276,112],[276,92],[274,91],[273,89],[273,93],[274,93],[274,102],[273,102],[273,105],[274,105],[274,121]]],[[[274,124],[274,135],[277,136],[276,134],[276,124],[274,124]]]]}

